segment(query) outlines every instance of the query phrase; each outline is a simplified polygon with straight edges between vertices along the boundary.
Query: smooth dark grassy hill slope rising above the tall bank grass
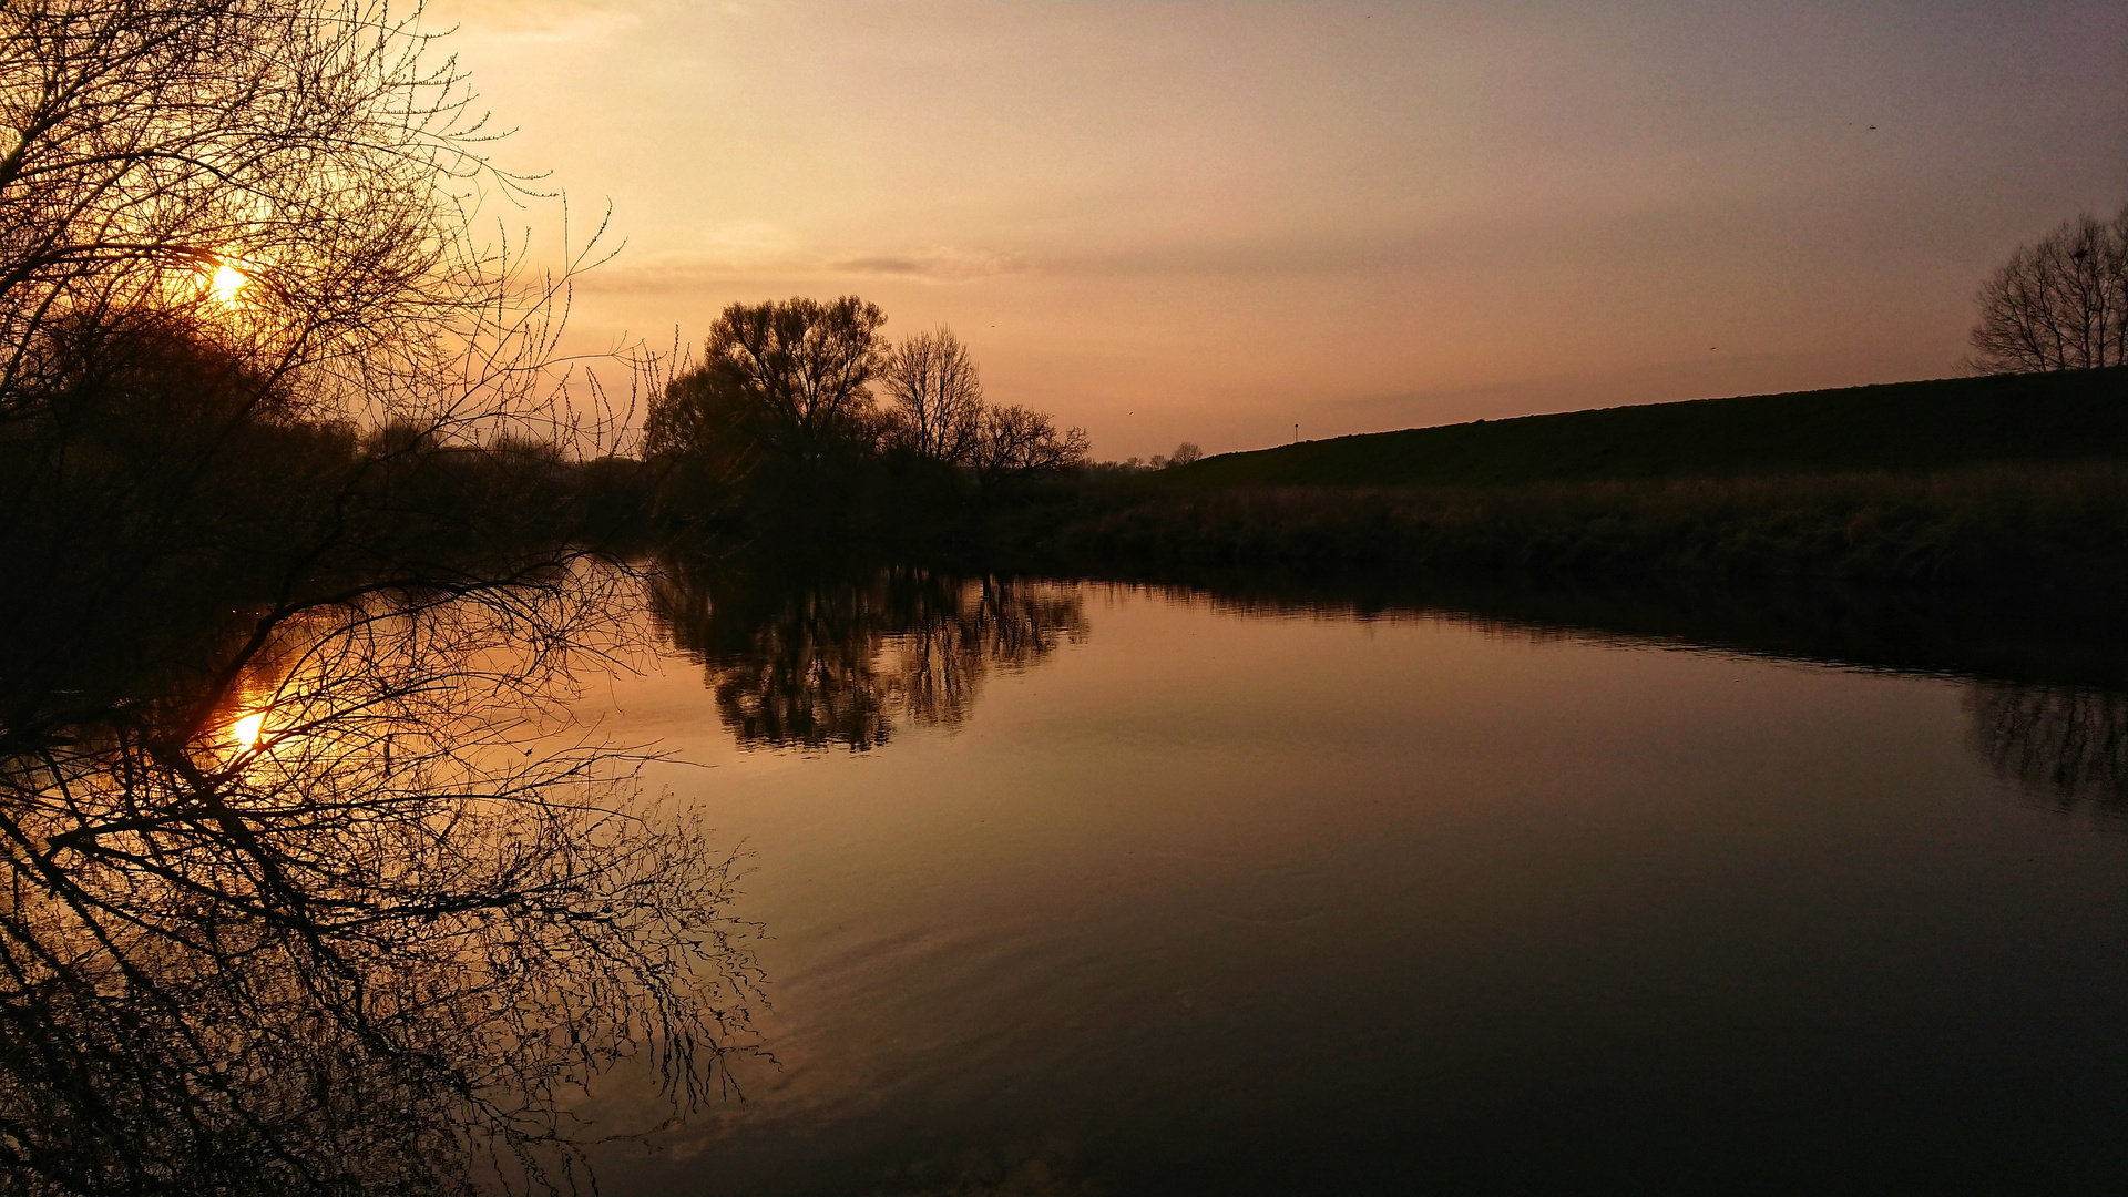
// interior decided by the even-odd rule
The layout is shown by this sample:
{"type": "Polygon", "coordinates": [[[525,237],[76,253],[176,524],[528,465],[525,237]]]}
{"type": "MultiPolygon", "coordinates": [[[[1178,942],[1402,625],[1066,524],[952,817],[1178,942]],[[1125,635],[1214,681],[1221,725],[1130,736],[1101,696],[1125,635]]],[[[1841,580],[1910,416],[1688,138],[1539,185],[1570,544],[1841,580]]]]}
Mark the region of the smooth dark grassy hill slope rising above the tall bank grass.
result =
{"type": "Polygon", "coordinates": [[[1698,398],[1221,454],[1177,488],[1496,486],[2128,458],[2128,366],[1698,398]]]}

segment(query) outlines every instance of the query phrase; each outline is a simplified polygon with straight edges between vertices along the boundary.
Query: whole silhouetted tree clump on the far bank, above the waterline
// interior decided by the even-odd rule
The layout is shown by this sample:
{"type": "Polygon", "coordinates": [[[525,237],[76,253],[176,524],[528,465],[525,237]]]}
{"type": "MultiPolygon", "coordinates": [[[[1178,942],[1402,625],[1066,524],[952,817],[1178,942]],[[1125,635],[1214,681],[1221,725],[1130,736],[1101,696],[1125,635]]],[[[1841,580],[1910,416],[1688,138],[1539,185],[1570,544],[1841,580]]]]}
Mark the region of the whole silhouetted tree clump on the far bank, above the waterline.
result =
{"type": "Polygon", "coordinates": [[[779,550],[966,552],[1087,464],[1079,428],[994,405],[949,328],[890,343],[855,296],[724,309],[651,398],[651,524],[779,550]]]}

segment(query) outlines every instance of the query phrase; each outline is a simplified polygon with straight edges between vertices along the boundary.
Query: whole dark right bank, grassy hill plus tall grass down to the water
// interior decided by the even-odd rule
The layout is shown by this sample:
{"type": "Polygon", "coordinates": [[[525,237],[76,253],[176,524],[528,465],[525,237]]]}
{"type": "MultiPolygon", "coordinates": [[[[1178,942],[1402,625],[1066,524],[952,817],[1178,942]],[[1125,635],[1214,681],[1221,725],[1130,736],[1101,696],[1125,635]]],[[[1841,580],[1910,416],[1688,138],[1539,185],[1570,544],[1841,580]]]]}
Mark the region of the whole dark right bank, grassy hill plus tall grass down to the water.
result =
{"type": "Polygon", "coordinates": [[[1079,562],[2128,581],[2128,368],[1613,407],[1087,490],[1079,562]]]}

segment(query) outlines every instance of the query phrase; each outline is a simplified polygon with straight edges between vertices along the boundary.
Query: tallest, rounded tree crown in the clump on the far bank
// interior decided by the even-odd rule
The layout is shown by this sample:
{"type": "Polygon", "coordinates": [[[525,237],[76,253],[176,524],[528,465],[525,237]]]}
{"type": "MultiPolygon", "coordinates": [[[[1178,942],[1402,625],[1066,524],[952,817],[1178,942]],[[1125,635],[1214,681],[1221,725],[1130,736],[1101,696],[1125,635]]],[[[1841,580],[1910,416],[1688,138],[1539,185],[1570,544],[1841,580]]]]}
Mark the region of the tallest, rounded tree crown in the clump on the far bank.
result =
{"type": "Polygon", "coordinates": [[[819,302],[734,302],[709,328],[704,360],[651,398],[645,449],[717,454],[717,437],[745,437],[817,464],[872,439],[870,381],[885,356],[885,313],[858,296],[819,302]]]}

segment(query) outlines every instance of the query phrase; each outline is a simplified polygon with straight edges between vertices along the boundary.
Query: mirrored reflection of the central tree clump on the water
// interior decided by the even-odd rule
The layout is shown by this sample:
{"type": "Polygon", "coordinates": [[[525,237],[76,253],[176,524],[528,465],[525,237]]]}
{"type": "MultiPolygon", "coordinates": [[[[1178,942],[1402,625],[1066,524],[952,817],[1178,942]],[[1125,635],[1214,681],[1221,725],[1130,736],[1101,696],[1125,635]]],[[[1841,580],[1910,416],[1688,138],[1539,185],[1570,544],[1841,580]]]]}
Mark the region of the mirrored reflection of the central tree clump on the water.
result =
{"type": "Polygon", "coordinates": [[[900,724],[960,726],[992,669],[1085,635],[1073,588],[885,569],[764,579],[668,569],[651,588],[745,745],[870,750],[900,724]]]}

